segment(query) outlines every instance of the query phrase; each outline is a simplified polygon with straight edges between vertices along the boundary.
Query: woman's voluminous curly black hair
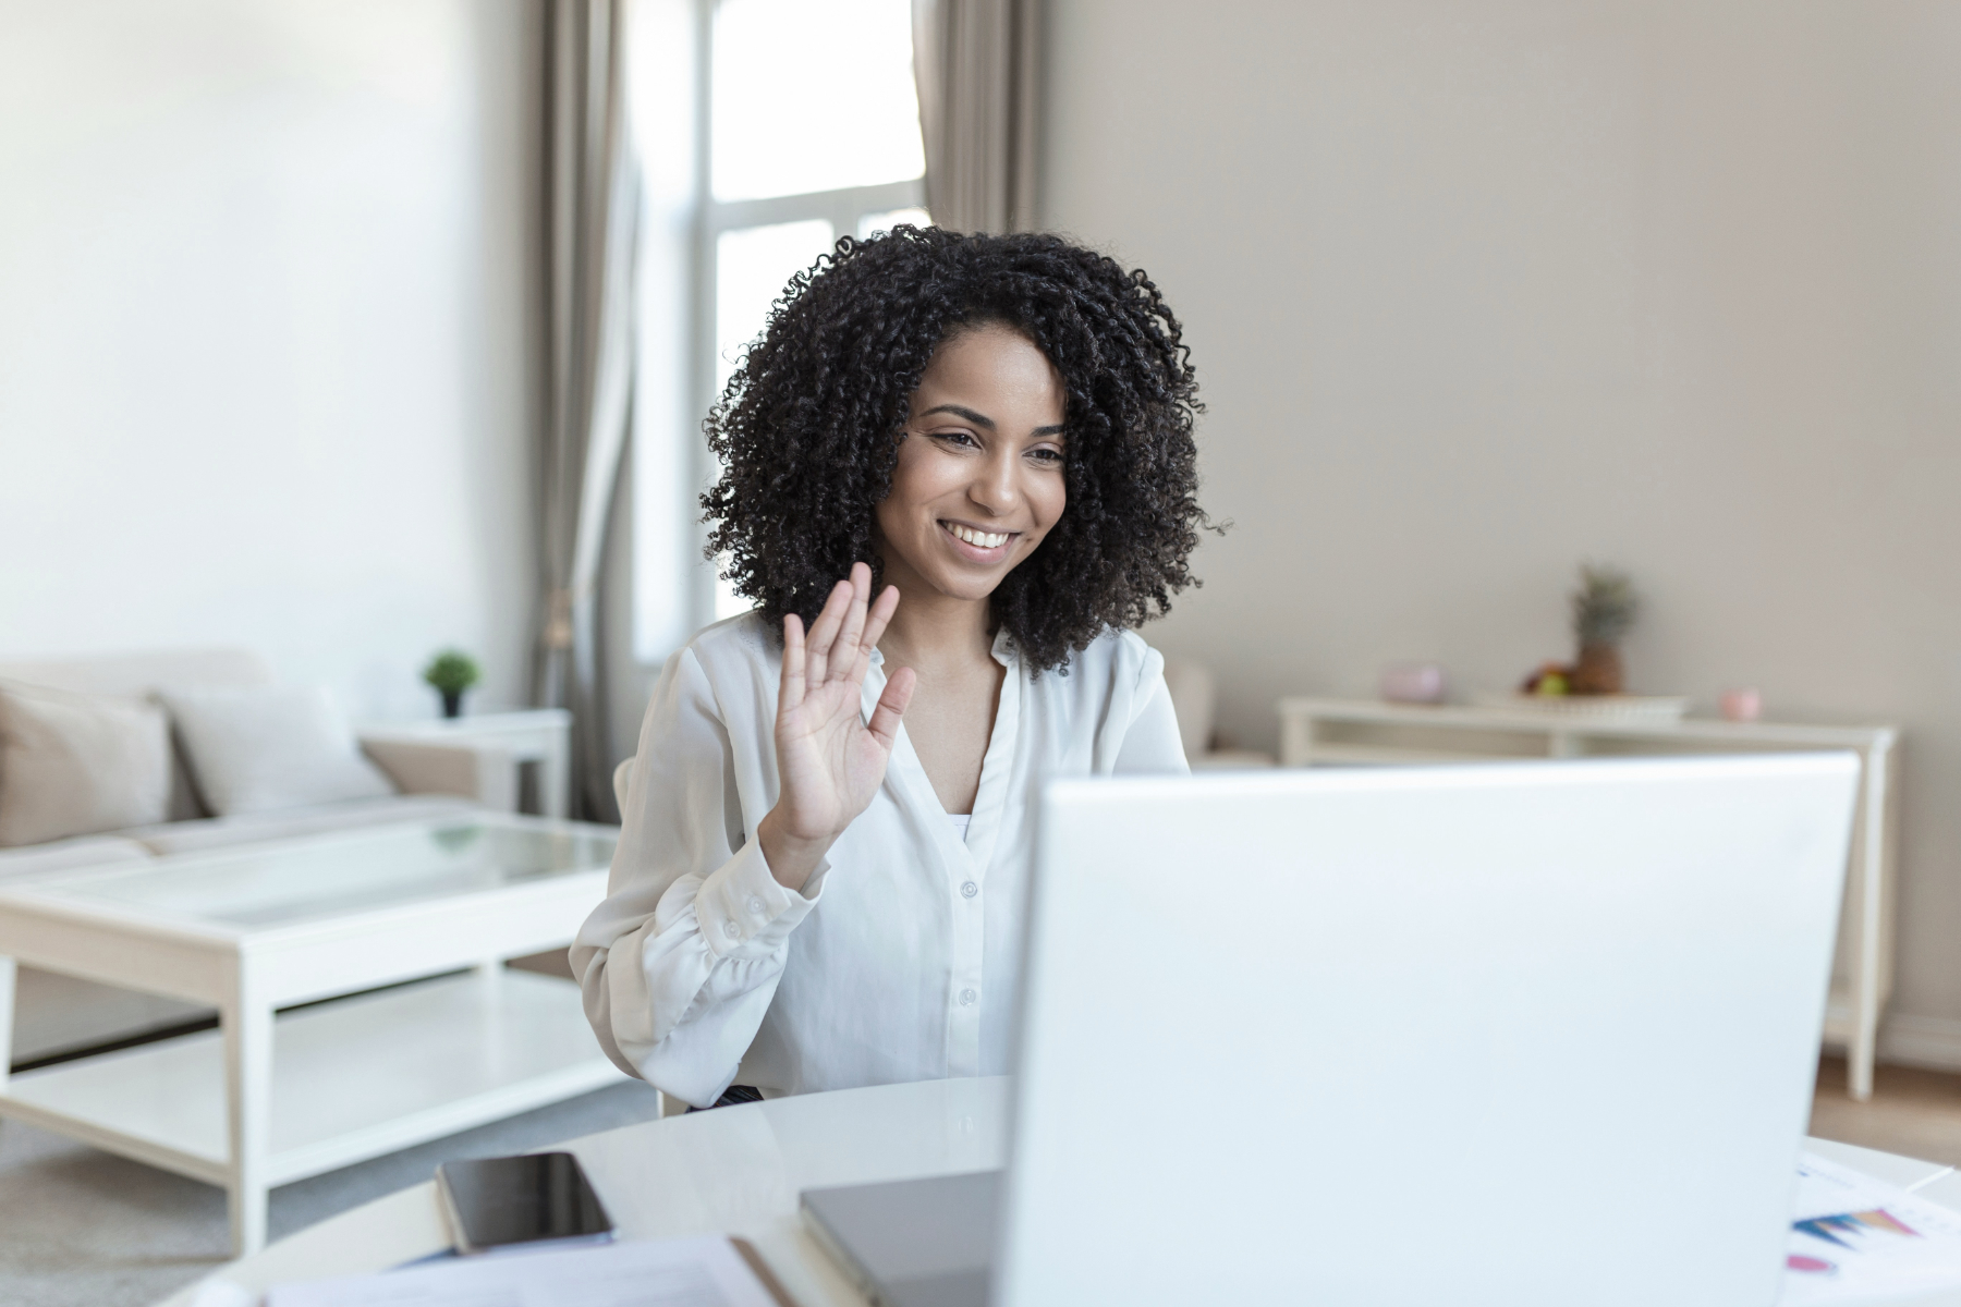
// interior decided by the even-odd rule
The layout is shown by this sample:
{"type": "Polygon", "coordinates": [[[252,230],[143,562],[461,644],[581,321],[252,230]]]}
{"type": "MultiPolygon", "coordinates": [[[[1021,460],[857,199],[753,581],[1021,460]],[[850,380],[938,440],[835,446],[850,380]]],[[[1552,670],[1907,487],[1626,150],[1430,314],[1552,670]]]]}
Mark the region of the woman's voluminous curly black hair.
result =
{"type": "Polygon", "coordinates": [[[853,562],[879,570],[875,509],[933,351],[1000,323],[1047,355],[1065,390],[1069,502],[992,596],[1035,668],[1108,627],[1135,627],[1198,584],[1200,411],[1179,319],[1141,270],[1057,235],[898,225],[843,237],[775,302],[704,429],[722,478],[702,496],[708,555],[765,619],[816,619],[853,562]]]}

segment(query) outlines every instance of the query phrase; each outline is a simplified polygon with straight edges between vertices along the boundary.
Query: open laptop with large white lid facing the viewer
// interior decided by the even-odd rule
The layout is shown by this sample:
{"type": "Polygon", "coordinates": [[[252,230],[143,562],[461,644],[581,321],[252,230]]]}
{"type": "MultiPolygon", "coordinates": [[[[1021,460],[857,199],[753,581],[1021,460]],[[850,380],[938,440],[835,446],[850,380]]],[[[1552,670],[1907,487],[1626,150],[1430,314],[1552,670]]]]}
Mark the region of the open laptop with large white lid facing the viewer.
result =
{"type": "Polygon", "coordinates": [[[806,1219],[894,1307],[1769,1307],[1855,780],[1059,782],[992,1258],[986,1182],[806,1219]]]}

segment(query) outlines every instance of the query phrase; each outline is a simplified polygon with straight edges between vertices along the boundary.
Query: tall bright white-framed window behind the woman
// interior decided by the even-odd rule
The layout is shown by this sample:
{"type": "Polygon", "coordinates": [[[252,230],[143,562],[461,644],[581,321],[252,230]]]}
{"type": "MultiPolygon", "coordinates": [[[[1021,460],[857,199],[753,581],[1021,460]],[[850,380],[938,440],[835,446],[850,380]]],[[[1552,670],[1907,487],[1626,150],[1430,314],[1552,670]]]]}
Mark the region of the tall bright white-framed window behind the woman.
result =
{"type": "Polygon", "coordinates": [[[649,176],[641,394],[649,376],[684,376],[686,392],[680,406],[647,404],[635,433],[635,653],[651,660],[702,621],[749,607],[708,564],[677,578],[677,533],[651,517],[684,513],[700,557],[694,496],[714,476],[700,421],[771,304],[839,235],[930,219],[910,0],[641,0],[633,41],[633,129],[649,176]],[[677,41],[692,41],[692,69],[677,41]],[[692,88],[690,106],[677,84],[692,88]],[[665,192],[655,174],[671,180],[665,192]],[[692,290],[684,321],[677,280],[692,290]],[[663,306],[679,331],[649,329],[663,306]],[[686,363],[671,370],[677,349],[686,363]],[[677,482],[692,486],[686,504],[677,482]]]}

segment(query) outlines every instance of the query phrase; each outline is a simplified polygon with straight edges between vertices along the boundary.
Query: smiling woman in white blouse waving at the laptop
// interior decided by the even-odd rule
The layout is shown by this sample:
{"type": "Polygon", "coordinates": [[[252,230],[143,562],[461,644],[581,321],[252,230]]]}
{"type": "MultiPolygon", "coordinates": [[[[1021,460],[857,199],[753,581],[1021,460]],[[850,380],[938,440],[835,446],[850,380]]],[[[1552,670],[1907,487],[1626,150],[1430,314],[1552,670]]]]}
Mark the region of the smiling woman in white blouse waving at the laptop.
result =
{"type": "Polygon", "coordinates": [[[1186,770],[1130,627],[1192,584],[1196,408],[1151,280],[1053,235],[792,282],[708,417],[757,609],[667,662],[573,944],[614,1062],[696,1107],[1006,1070],[1041,782],[1186,770]]]}

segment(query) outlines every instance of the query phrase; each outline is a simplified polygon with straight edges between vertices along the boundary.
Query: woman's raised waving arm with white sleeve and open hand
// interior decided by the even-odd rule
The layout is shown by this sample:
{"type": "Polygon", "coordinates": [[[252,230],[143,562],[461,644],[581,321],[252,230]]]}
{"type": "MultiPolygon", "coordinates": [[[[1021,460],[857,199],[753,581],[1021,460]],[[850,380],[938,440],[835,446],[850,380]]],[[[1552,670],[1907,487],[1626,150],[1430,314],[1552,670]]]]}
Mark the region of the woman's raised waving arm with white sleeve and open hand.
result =
{"type": "MultiPolygon", "coordinates": [[[[884,780],[912,674],[871,723],[861,688],[898,592],[839,582],[810,639],[784,619],[775,723],[726,721],[692,651],[661,672],[641,727],[610,894],[573,944],[586,1019],[628,1072],[696,1107],[735,1076],[812,911],[824,854],[884,780]],[[729,731],[773,731],[777,798],[747,839],[729,731]]],[[[757,741],[761,749],[761,741],[757,741]]]]}

